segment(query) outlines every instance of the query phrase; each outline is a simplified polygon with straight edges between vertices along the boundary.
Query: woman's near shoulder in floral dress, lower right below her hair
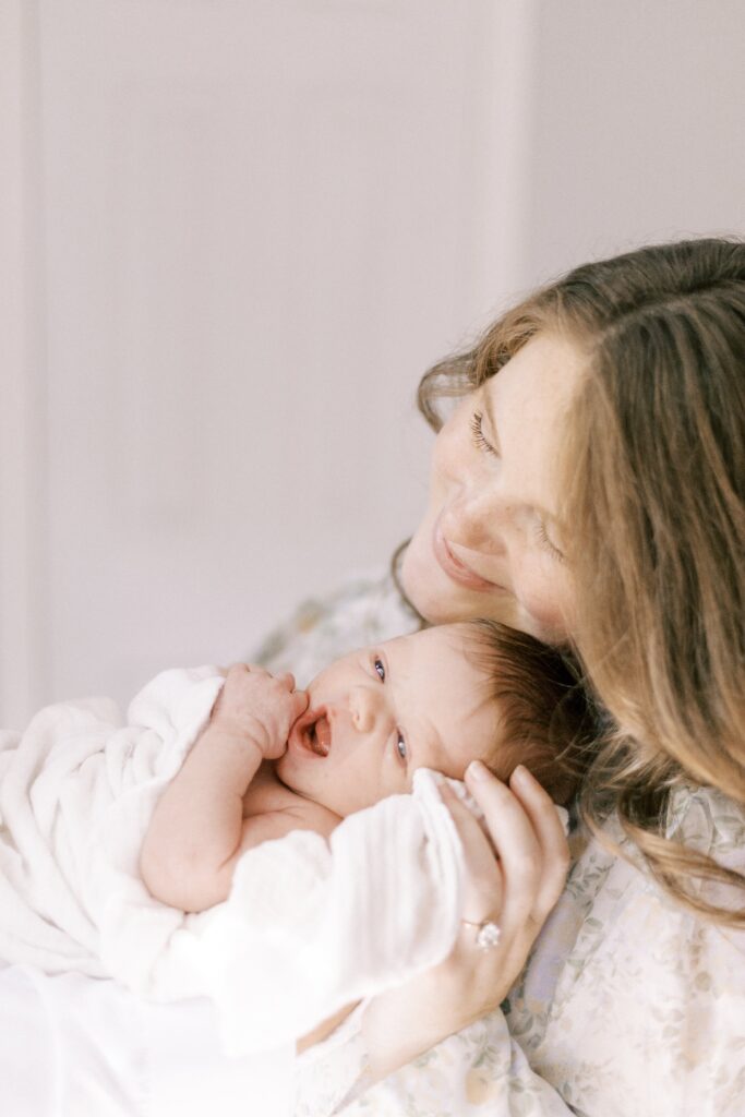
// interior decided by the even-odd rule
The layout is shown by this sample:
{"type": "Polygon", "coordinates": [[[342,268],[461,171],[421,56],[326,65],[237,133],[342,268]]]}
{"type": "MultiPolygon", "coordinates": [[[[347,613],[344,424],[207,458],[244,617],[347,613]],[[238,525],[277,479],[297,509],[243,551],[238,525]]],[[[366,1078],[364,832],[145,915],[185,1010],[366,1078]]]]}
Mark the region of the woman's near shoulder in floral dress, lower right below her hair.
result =
{"type": "MultiPolygon", "coordinates": [[[[666,836],[739,870],[744,827],[743,808],[713,789],[670,796],[666,836]]],[[[739,1111],[744,939],[672,899],[611,817],[581,850],[509,995],[510,1031],[583,1113],[615,1111],[619,1096],[629,1113],[694,1111],[715,1081],[716,1111],[739,1111]]]]}

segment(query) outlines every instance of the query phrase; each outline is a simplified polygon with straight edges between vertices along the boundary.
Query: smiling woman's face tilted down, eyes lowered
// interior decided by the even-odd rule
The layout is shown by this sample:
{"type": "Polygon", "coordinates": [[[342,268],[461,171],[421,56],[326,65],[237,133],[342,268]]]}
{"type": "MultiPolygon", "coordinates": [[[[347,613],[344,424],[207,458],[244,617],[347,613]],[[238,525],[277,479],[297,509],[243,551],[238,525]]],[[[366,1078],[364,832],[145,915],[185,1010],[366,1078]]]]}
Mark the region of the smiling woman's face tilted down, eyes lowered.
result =
{"type": "Polygon", "coordinates": [[[428,620],[486,617],[552,643],[572,631],[556,462],[581,367],[567,342],[538,335],[438,435],[429,506],[402,567],[428,620]]]}

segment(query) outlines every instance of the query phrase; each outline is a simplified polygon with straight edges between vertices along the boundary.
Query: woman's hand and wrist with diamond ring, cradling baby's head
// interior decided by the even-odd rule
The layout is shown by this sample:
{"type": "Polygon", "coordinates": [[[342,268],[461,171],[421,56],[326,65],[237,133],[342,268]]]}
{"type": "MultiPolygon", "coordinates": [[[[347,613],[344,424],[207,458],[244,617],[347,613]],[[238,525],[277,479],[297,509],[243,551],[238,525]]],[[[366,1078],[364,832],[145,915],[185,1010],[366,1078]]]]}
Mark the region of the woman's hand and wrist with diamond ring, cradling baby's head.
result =
{"type": "Polygon", "coordinates": [[[466,858],[462,917],[494,922],[499,941],[483,949],[477,928],[464,923],[443,963],[375,997],[363,1022],[372,1081],[499,1005],[564,887],[570,863],[564,830],[529,772],[516,768],[507,786],[476,763],[466,784],[484,823],[441,786],[466,858]]]}

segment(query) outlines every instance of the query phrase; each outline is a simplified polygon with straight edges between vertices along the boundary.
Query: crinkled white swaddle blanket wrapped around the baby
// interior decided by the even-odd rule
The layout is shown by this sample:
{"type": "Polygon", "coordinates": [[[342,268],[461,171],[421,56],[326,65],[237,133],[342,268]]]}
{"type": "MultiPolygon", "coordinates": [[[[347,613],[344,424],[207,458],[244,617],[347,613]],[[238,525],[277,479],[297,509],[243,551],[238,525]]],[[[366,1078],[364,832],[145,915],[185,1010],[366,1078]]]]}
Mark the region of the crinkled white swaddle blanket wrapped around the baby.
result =
{"type": "Polygon", "coordinates": [[[139,857],[155,801],[209,718],[212,668],[166,671],[123,720],[107,699],[0,734],[0,957],[111,976],[157,1001],[209,996],[226,1049],[278,1049],[342,1006],[441,961],[460,916],[461,849],[433,773],[241,859],[228,900],[154,900],[139,857]]]}

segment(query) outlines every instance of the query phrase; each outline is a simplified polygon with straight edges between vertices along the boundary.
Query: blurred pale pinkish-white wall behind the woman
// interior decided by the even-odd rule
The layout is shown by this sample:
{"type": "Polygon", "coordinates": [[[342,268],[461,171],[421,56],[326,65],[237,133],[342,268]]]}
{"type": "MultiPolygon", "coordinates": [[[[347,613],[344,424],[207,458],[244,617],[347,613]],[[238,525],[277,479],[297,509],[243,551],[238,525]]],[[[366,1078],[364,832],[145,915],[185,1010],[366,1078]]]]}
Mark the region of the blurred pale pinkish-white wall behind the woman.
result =
{"type": "Polygon", "coordinates": [[[0,0],[0,720],[243,657],[423,502],[420,373],[745,235],[741,0],[0,0]]]}

